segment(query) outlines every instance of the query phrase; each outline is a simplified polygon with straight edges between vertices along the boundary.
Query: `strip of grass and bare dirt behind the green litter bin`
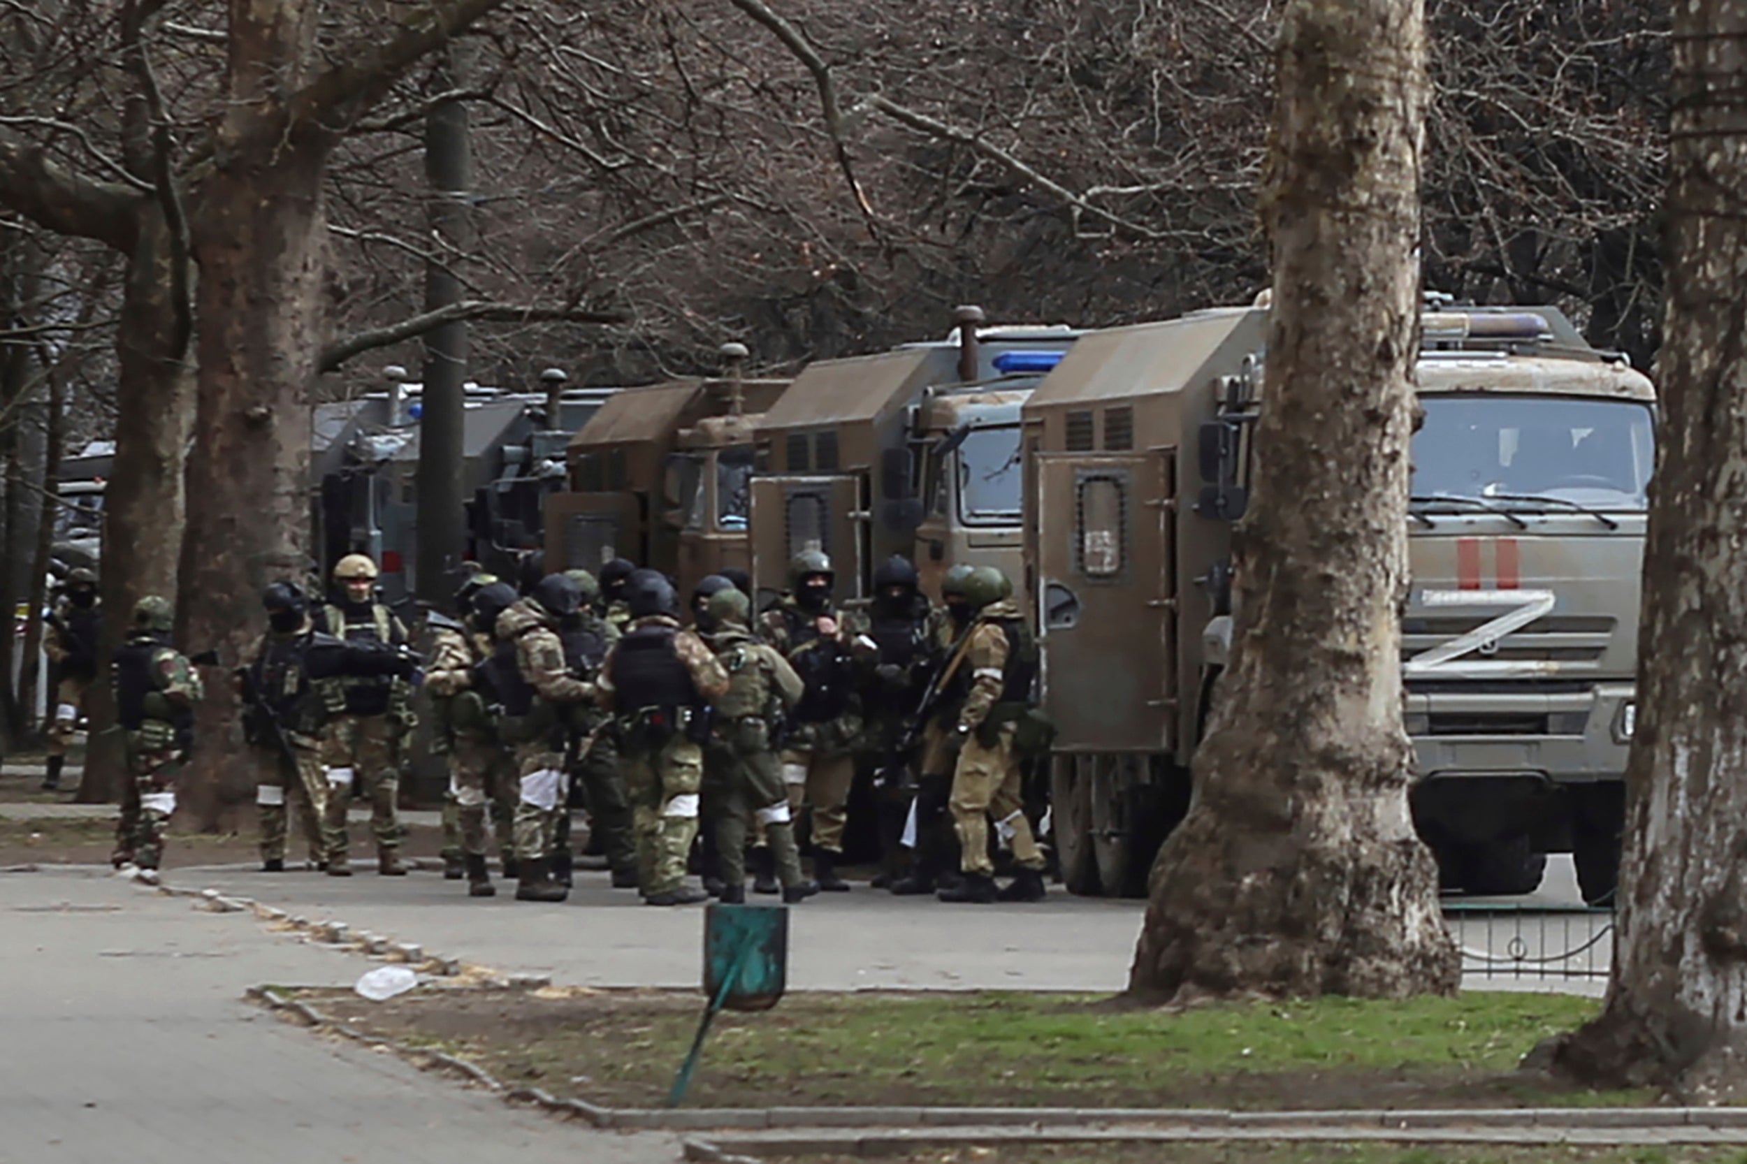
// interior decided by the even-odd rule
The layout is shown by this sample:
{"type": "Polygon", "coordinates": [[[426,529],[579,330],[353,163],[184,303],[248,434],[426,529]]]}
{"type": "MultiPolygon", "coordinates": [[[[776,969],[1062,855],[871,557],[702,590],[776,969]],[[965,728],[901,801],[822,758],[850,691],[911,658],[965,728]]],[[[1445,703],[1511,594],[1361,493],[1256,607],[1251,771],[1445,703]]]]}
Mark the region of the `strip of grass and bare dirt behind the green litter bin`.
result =
{"type": "MultiPolygon", "coordinates": [[[[505,1082],[627,1106],[660,1101],[702,1012],[697,996],[653,991],[437,991],[381,1005],[334,994],[316,1005],[402,1042],[440,1040],[505,1082]]],[[[690,1101],[1300,1110],[1651,1101],[1515,1075],[1523,1052],[1597,1005],[1467,994],[1172,1012],[1081,994],[791,994],[776,1010],[718,1019],[690,1101]]]]}

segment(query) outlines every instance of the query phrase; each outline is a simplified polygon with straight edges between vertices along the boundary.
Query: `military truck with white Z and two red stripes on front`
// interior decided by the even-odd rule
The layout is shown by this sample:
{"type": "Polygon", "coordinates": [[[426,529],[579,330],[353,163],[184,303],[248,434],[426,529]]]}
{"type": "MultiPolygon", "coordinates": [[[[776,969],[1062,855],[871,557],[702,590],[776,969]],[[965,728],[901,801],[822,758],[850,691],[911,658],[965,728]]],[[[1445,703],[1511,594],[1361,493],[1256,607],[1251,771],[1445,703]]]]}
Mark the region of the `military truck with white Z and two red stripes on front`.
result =
{"type": "MultiPolygon", "coordinates": [[[[1024,405],[1025,585],[1076,893],[1139,895],[1232,641],[1265,308],[1083,336],[1024,405]]],[[[1618,879],[1651,383],[1551,308],[1424,316],[1403,620],[1415,823],[1447,888],[1618,879]]]]}

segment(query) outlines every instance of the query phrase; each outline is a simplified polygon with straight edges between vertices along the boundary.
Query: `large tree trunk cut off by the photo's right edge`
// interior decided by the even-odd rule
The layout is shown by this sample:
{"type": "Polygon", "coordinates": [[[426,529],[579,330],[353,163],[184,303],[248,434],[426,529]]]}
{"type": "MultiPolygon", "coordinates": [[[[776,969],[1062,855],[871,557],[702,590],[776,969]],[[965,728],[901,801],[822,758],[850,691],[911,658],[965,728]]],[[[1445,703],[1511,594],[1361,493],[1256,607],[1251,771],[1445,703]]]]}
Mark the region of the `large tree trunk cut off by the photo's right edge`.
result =
{"type": "Polygon", "coordinates": [[[1747,2],[1674,10],[1661,447],[1607,1003],[1551,1047],[1595,1085],[1747,1096],[1747,2]]]}

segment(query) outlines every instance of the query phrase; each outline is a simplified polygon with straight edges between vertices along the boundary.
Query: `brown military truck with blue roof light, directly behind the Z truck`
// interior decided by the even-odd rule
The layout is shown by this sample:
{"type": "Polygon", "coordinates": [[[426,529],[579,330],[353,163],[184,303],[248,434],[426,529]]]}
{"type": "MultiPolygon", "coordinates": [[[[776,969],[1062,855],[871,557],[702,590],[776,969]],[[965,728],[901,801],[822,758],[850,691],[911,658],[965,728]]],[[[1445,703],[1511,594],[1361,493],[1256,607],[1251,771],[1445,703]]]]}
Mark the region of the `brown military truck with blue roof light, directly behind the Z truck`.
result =
{"type": "Polygon", "coordinates": [[[924,589],[954,561],[1019,570],[1019,407],[1078,332],[984,327],[959,308],[942,341],[809,364],[758,419],[753,580],[786,585],[802,549],[837,568],[840,603],[865,599],[891,554],[924,589]]]}

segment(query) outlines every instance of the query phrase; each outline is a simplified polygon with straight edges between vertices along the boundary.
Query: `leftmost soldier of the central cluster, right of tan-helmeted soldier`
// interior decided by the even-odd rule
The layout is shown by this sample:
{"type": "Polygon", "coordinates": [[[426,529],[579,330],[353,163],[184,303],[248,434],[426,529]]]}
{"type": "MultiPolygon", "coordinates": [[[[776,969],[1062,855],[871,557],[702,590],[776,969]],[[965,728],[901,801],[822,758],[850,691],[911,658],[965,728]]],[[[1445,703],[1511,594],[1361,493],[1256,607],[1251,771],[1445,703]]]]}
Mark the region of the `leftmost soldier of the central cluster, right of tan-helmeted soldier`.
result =
{"type": "MultiPolygon", "coordinates": [[[[461,622],[432,615],[432,666],[425,683],[432,692],[432,752],[449,762],[447,804],[454,806],[456,846],[468,897],[493,897],[486,870],[486,809],[494,814],[505,876],[515,865],[514,764],[498,739],[491,703],[473,690],[473,668],[491,657],[491,627],[515,601],[515,591],[489,573],[477,573],[456,592],[461,622]]],[[[447,823],[445,823],[447,830],[447,823]]],[[[444,870],[447,876],[447,869],[444,870]]]]}

